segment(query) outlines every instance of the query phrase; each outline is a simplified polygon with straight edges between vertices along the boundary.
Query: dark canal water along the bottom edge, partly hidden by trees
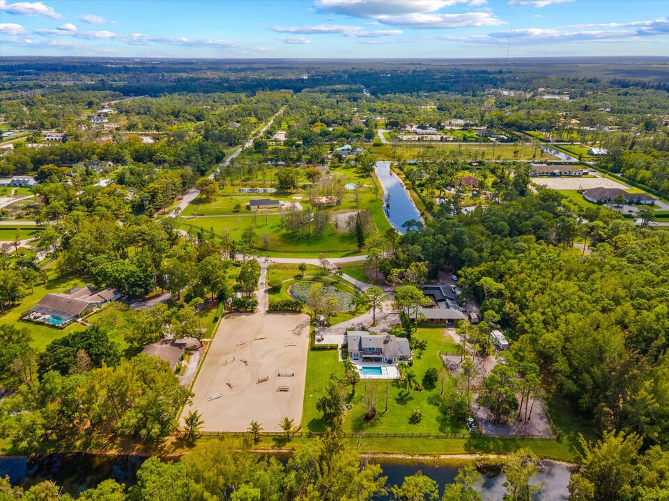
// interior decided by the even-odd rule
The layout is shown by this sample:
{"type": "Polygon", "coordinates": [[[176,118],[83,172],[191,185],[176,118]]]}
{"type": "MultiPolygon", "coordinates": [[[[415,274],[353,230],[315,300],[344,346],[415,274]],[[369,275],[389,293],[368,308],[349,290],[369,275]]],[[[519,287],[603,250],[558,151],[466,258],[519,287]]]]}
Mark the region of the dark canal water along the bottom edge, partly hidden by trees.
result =
{"type": "MultiPolygon", "coordinates": [[[[52,479],[66,491],[77,495],[87,488],[94,488],[102,480],[115,479],[116,482],[132,486],[136,482],[137,470],[146,458],[139,456],[104,456],[96,454],[49,454],[36,459],[25,457],[0,457],[0,476],[9,475],[13,485],[29,487],[46,479],[52,479]]],[[[285,461],[285,460],[282,460],[285,461]]],[[[383,469],[383,476],[388,477],[387,486],[401,485],[404,477],[421,470],[440,486],[452,482],[458,468],[464,466],[463,460],[435,461],[377,461],[383,469]]],[[[544,482],[541,493],[535,501],[562,501],[567,499],[569,491],[569,467],[562,463],[543,461],[541,472],[534,483],[544,482]]],[[[498,467],[482,470],[484,499],[500,500],[505,491],[505,475],[498,467]]],[[[375,499],[390,500],[390,496],[375,499]]]]}

